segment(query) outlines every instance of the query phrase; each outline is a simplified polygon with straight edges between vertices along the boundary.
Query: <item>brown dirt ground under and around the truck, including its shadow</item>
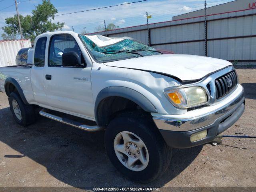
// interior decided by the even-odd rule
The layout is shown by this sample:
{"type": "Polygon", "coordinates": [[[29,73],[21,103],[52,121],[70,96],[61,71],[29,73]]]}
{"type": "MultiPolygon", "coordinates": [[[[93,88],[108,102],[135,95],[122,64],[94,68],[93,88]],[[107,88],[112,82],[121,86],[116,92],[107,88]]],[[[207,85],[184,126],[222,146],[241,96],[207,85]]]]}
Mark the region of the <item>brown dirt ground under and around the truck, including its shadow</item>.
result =
{"type": "MultiPolygon", "coordinates": [[[[256,69],[238,69],[246,110],[224,135],[256,135],[256,69]]],[[[38,117],[29,127],[14,122],[0,93],[0,186],[145,186],[117,172],[106,156],[104,132],[88,133],[38,117]]],[[[173,150],[172,162],[150,186],[256,186],[256,139],[224,138],[173,150]]]]}

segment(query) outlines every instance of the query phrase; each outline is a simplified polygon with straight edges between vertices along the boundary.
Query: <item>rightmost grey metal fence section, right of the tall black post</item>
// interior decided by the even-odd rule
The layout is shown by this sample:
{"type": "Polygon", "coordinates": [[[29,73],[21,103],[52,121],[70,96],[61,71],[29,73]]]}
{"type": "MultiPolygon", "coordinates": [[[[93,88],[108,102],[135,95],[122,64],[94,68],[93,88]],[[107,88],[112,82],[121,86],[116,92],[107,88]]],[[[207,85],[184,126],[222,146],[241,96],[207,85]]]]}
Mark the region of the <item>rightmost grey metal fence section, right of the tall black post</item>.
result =
{"type": "Polygon", "coordinates": [[[253,13],[255,10],[234,12],[228,17],[235,18],[209,21],[208,56],[225,60],[256,60],[256,15],[236,18],[253,13]]]}

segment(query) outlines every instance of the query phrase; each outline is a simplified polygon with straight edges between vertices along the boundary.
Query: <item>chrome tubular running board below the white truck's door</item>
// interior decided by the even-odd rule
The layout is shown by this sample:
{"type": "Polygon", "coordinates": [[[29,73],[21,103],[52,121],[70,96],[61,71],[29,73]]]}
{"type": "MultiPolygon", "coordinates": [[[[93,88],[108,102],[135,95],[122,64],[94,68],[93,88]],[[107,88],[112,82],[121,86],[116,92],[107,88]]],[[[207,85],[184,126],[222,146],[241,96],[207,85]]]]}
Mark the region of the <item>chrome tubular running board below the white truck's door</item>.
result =
{"type": "Polygon", "coordinates": [[[84,124],[82,124],[80,122],[76,122],[76,121],[73,121],[73,120],[70,120],[70,119],[67,119],[67,118],[62,118],[62,117],[50,114],[50,113],[46,112],[45,109],[42,109],[39,112],[39,114],[41,116],[46,117],[46,118],[49,118],[49,119],[61,122],[63,124],[67,124],[67,125],[70,125],[70,126],[73,126],[73,127],[79,128],[79,129],[82,129],[84,131],[95,132],[95,131],[100,131],[100,130],[103,129],[102,127],[99,127],[97,125],[96,126],[84,125],[84,124]]]}

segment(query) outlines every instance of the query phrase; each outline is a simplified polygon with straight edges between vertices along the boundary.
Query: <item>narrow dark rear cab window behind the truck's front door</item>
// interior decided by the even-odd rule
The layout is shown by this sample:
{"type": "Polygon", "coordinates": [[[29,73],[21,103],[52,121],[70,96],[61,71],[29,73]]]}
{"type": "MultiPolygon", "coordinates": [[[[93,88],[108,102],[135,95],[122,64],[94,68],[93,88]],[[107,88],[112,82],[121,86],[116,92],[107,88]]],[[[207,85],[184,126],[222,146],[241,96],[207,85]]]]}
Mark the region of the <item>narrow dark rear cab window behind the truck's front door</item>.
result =
{"type": "Polygon", "coordinates": [[[39,38],[36,42],[34,64],[37,67],[43,67],[44,66],[46,40],[47,40],[46,37],[42,37],[42,38],[39,38]]]}

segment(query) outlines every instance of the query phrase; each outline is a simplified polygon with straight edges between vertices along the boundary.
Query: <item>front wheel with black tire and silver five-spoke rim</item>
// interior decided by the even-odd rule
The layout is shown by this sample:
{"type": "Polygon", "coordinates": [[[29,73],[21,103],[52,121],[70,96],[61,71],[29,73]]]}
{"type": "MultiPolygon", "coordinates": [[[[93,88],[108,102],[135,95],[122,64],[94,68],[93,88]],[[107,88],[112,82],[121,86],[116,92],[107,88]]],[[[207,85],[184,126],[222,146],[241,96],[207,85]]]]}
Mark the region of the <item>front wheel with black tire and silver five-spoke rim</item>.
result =
{"type": "MultiPolygon", "coordinates": [[[[106,152],[112,164],[124,176],[135,182],[148,183],[158,179],[170,164],[171,149],[162,138],[151,116],[138,114],[137,112],[127,112],[114,118],[106,129],[104,140],[106,152]],[[136,145],[133,142],[131,144],[130,142],[123,142],[124,138],[127,141],[126,134],[132,138],[135,144],[136,142],[140,145],[144,143],[145,147],[142,150],[137,150],[139,148],[137,146],[136,151],[134,151],[136,145]],[[119,146],[121,146],[122,152],[118,151],[120,150],[119,146]],[[136,152],[141,153],[136,154],[136,152]],[[137,160],[132,166],[128,167],[129,157],[132,158],[134,154],[136,158],[138,158],[137,155],[141,155],[139,159],[145,160],[146,158],[148,163],[144,161],[144,164],[142,164],[141,160],[137,160]]],[[[129,162],[132,161],[134,160],[129,162]]]]}

